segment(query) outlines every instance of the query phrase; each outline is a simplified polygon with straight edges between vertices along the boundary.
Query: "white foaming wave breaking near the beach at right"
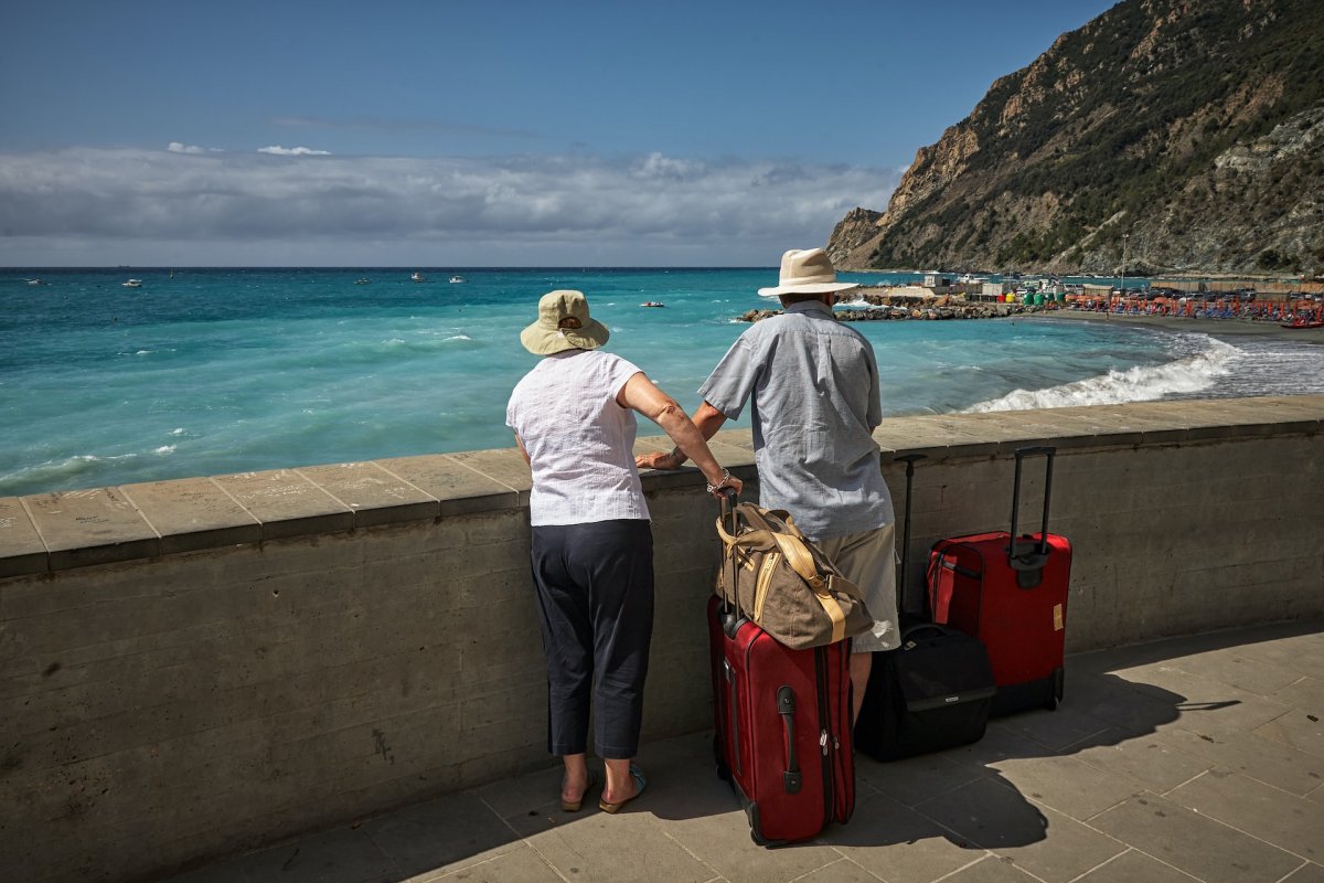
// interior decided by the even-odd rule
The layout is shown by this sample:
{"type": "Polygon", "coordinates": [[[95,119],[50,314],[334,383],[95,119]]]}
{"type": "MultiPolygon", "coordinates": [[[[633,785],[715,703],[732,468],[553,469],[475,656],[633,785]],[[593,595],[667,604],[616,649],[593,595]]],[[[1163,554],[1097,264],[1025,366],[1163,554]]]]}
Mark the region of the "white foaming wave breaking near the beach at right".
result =
{"type": "Polygon", "coordinates": [[[1245,352],[1229,343],[1205,338],[1205,349],[1161,365],[1137,365],[1125,371],[1087,377],[1047,389],[1013,389],[1000,398],[981,401],[965,413],[1070,408],[1074,405],[1117,405],[1128,401],[1156,401],[1204,392],[1229,376],[1245,352]]]}

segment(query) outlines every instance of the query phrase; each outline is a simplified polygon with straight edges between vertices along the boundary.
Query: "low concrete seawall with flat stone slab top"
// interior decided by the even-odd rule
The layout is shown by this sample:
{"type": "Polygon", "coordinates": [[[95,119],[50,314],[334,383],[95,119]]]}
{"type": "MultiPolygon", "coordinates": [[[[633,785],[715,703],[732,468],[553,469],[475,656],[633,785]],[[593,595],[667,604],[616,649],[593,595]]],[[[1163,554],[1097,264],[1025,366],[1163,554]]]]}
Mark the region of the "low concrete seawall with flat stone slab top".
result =
{"type": "MultiPolygon", "coordinates": [[[[907,590],[933,540],[1006,528],[1013,450],[1050,443],[1068,651],[1324,616],[1321,422],[1324,396],[887,420],[898,511],[892,458],[928,457],[907,590]]],[[[714,449],[755,478],[748,432],[714,449]]],[[[718,548],[698,473],[645,490],[657,739],[710,724],[718,548]]],[[[515,450],[0,498],[0,878],[147,878],[548,764],[527,499],[515,450]]]]}

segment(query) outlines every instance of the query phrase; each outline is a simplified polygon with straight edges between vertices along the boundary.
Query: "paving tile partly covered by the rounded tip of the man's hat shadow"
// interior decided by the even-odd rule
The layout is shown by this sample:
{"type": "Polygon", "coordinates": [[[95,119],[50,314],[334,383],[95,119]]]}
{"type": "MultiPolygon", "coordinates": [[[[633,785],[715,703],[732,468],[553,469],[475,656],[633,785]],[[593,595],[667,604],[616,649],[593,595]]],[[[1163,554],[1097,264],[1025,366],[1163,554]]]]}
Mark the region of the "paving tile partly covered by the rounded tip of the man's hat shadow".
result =
{"type": "Polygon", "coordinates": [[[992,850],[1049,883],[1064,883],[1125,846],[1057,810],[1031,804],[1016,788],[978,780],[915,812],[992,850]]]}

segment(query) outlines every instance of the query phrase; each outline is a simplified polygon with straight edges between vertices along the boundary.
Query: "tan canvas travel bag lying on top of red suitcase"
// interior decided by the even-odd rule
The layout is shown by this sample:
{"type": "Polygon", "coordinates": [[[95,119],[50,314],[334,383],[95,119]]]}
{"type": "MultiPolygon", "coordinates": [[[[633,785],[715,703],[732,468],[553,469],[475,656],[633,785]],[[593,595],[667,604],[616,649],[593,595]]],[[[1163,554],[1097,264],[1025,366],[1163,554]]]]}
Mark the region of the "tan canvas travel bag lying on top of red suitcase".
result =
{"type": "Polygon", "coordinates": [[[739,503],[733,515],[733,535],[718,519],[724,561],[715,594],[793,650],[835,643],[873,627],[859,588],[789,514],[739,503]]]}

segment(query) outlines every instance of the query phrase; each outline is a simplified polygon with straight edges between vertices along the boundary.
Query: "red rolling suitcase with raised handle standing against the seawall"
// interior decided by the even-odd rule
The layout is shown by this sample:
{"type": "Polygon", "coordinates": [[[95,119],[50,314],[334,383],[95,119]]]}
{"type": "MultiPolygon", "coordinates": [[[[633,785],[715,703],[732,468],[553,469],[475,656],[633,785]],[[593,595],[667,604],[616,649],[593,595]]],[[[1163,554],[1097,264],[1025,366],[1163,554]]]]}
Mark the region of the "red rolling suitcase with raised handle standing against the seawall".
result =
{"type": "Polygon", "coordinates": [[[1010,531],[939,540],[929,552],[933,621],[974,635],[988,647],[997,682],[993,715],[1055,708],[1062,700],[1071,543],[1049,534],[1055,453],[1053,447],[1016,451],[1010,531]],[[1017,536],[1021,465],[1039,454],[1046,458],[1043,524],[1037,534],[1017,536]]]}

